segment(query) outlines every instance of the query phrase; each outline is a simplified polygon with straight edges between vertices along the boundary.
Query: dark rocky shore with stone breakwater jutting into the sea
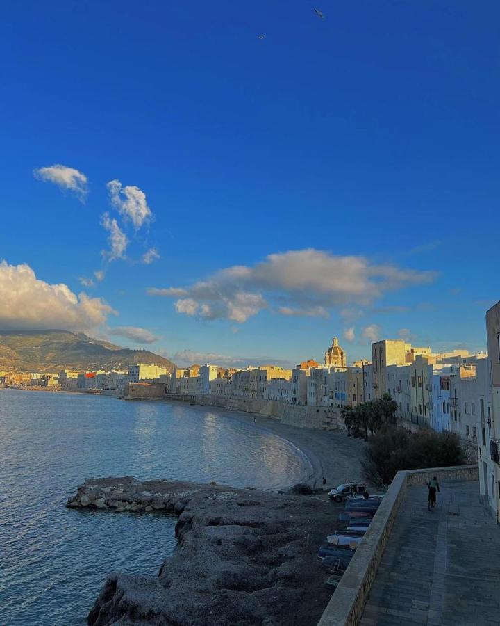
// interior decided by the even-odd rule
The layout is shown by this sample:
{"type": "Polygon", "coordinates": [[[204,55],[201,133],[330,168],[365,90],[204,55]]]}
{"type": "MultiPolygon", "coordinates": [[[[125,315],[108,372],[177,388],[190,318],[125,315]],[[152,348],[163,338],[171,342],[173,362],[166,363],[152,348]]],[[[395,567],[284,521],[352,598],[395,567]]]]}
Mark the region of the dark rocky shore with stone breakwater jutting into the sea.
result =
{"type": "Polygon", "coordinates": [[[90,625],[313,626],[331,597],[316,558],[338,526],[326,500],[126,476],[85,481],[67,506],[178,515],[158,577],[110,575],[90,625]]]}

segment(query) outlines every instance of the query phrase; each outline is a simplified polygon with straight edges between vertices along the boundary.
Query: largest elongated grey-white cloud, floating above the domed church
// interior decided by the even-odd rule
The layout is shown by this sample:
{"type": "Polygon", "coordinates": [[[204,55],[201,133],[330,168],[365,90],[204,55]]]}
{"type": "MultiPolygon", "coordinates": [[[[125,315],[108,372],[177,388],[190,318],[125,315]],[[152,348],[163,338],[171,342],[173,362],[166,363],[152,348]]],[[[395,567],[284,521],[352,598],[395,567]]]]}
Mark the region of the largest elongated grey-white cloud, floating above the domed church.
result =
{"type": "Polygon", "coordinates": [[[274,302],[285,315],[324,316],[331,307],[366,306],[387,291],[431,282],[435,275],[309,248],[269,255],[252,267],[228,267],[190,287],[153,287],[148,293],[181,297],[178,312],[244,322],[274,302]]]}

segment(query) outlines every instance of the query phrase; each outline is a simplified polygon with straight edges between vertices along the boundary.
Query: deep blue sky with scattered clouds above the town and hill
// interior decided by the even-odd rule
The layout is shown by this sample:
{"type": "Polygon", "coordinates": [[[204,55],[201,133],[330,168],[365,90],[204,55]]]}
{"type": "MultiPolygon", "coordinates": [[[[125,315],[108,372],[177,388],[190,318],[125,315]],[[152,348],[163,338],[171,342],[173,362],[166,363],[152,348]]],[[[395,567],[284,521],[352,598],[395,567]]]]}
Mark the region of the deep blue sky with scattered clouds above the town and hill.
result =
{"type": "Polygon", "coordinates": [[[178,362],[484,347],[499,26],[487,1],[6,3],[0,326],[178,362]]]}

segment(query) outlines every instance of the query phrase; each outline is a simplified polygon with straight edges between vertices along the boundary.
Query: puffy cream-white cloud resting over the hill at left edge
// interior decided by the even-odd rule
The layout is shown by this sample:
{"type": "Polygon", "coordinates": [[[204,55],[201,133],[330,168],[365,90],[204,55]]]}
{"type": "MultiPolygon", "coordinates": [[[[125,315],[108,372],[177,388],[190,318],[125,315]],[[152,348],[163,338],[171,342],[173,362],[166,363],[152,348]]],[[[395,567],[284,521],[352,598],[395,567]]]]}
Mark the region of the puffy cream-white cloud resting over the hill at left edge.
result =
{"type": "Polygon", "coordinates": [[[67,285],[36,278],[27,264],[0,262],[0,328],[91,330],[113,309],[101,298],[74,294],[67,285]]]}

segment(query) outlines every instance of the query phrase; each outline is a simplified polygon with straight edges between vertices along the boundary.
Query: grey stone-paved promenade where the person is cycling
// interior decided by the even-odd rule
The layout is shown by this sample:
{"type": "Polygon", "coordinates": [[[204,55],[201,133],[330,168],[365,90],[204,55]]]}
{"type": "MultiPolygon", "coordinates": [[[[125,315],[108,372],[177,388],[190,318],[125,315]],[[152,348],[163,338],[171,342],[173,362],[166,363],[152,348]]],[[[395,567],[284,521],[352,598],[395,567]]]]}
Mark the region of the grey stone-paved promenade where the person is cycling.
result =
{"type": "MultiPolygon", "coordinates": [[[[437,476],[439,479],[439,476],[437,476]]],[[[360,626],[500,626],[500,527],[475,481],[408,488],[360,626]]]]}

